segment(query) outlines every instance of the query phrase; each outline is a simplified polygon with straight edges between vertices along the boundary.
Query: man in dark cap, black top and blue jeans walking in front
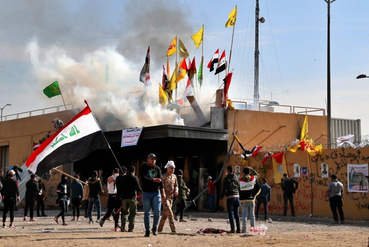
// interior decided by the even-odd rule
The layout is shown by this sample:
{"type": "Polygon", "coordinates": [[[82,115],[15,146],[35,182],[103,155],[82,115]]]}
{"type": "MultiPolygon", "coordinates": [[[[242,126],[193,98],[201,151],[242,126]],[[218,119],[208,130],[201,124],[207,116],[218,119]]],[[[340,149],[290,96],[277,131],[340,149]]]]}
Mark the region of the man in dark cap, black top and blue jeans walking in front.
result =
{"type": "Polygon", "coordinates": [[[150,216],[154,211],[153,234],[157,235],[157,224],[160,217],[161,200],[165,200],[161,170],[155,165],[156,156],[151,153],[147,156],[147,162],[141,166],[140,176],[142,181],[142,203],[144,204],[145,237],[150,237],[150,216]],[[161,192],[161,193],[160,193],[161,192]]]}

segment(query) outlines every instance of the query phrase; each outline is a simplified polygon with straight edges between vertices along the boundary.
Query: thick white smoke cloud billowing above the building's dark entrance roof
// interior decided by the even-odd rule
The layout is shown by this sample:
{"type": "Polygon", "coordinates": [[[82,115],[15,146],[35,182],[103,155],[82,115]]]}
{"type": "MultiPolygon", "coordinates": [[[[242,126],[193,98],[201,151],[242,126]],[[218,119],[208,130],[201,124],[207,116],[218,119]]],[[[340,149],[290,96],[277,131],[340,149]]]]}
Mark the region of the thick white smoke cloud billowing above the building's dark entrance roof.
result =
{"type": "MultiPolygon", "coordinates": [[[[141,94],[139,90],[143,88],[138,77],[144,54],[142,64],[138,65],[118,53],[116,46],[105,46],[76,61],[61,47],[40,48],[36,40],[29,43],[28,52],[40,87],[58,80],[66,103],[79,104],[87,100],[104,130],[184,125],[184,120],[175,110],[158,104],[157,80],[153,80],[156,82],[149,90],[150,101],[143,102],[138,97],[141,94]],[[107,62],[109,80],[105,82],[107,62]]],[[[152,77],[161,81],[161,72],[152,72],[152,77]]]]}

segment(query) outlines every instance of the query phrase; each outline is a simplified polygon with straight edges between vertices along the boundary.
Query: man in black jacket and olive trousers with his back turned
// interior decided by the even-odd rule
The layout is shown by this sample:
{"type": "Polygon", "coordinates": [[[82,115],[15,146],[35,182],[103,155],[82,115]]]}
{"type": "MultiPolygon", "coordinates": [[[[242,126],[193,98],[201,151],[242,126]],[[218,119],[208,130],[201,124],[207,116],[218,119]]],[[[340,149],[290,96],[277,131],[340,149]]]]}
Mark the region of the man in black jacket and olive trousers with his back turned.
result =
{"type": "MultiPolygon", "coordinates": [[[[128,220],[128,232],[133,232],[136,213],[137,213],[137,200],[136,200],[136,192],[142,192],[140,187],[140,183],[138,181],[138,177],[134,176],[136,168],[134,166],[128,167],[128,173],[123,176],[121,183],[121,197],[123,204],[123,215],[129,215],[128,220]]],[[[126,217],[122,219],[122,227],[121,230],[125,231],[125,221],[126,217]]]]}

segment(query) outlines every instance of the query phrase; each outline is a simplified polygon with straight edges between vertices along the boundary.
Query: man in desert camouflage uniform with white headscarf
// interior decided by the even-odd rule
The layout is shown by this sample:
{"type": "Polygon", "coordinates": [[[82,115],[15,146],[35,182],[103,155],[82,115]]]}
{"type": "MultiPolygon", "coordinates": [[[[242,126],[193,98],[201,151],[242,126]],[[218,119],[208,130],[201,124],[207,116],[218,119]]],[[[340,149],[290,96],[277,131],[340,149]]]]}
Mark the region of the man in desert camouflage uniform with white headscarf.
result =
{"type": "Polygon", "coordinates": [[[174,175],[174,169],[176,168],[176,166],[174,165],[174,162],[170,160],[164,168],[167,169],[166,174],[164,174],[162,177],[166,197],[164,200],[161,201],[161,204],[163,205],[163,214],[161,216],[157,231],[163,231],[165,220],[168,218],[171,231],[176,233],[177,231],[176,227],[174,226],[174,218],[172,212],[173,194],[175,196],[178,196],[177,176],[174,175]]]}

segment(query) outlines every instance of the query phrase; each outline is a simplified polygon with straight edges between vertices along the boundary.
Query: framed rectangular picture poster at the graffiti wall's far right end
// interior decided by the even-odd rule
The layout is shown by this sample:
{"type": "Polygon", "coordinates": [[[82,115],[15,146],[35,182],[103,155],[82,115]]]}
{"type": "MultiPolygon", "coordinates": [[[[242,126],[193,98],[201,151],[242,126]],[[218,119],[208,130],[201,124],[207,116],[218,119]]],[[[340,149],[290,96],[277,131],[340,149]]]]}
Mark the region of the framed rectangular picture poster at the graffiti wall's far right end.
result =
{"type": "Polygon", "coordinates": [[[347,164],[347,176],[348,192],[369,192],[368,178],[366,178],[368,176],[368,164],[347,164]]]}

